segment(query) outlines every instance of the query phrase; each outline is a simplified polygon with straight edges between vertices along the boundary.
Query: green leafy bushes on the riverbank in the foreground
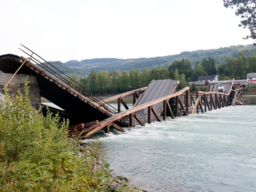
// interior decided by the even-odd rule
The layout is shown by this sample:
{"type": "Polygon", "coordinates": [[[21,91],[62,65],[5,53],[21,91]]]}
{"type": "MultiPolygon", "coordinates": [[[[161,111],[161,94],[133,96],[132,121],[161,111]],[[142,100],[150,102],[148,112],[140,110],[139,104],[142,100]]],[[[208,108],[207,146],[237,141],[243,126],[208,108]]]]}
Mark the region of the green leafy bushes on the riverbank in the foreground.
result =
{"type": "Polygon", "coordinates": [[[0,191],[110,191],[113,170],[100,145],[81,154],[78,140],[67,139],[68,121],[35,111],[27,80],[24,88],[14,100],[7,90],[0,104],[0,191]]]}

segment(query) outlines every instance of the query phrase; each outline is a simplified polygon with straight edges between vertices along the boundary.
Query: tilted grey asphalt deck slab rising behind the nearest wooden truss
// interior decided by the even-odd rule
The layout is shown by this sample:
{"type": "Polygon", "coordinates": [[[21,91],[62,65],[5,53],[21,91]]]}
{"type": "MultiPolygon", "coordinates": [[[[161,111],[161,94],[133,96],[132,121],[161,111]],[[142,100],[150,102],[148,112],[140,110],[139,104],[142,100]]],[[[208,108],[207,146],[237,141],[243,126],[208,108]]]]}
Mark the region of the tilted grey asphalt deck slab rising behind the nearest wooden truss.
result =
{"type": "MultiPolygon", "coordinates": [[[[165,95],[169,95],[172,92],[172,89],[176,83],[177,82],[175,80],[170,80],[170,79],[152,80],[151,83],[148,85],[148,88],[143,93],[143,95],[139,98],[137,103],[135,103],[134,107],[147,103],[149,101],[158,99],[165,95]]],[[[160,110],[162,105],[163,105],[163,102],[159,102],[153,105],[154,108],[156,109],[156,112],[160,110]]],[[[144,118],[148,117],[148,108],[141,109],[137,111],[136,114],[143,120],[144,118]]],[[[151,117],[153,120],[154,115],[152,112],[151,112],[151,117]]]]}

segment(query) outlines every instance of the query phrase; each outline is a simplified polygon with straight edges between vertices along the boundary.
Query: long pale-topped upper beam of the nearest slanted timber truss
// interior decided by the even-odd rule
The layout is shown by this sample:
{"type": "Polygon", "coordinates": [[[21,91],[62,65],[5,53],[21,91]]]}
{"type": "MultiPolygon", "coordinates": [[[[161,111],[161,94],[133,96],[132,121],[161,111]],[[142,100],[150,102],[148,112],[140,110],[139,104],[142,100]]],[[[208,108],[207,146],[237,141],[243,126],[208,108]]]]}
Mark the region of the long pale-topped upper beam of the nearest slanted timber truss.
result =
{"type": "MultiPolygon", "coordinates": [[[[134,108],[128,109],[128,110],[126,110],[126,111],[123,111],[123,112],[120,112],[120,113],[118,113],[118,114],[115,114],[115,115],[113,115],[113,116],[111,116],[111,117],[108,117],[107,119],[101,121],[100,124],[99,124],[99,126],[98,126],[97,128],[95,128],[95,129],[93,129],[92,131],[90,131],[89,133],[87,133],[87,134],[85,135],[85,137],[86,137],[86,138],[90,137],[92,134],[96,133],[97,131],[99,131],[100,129],[102,129],[103,127],[105,127],[106,124],[108,124],[108,123],[114,122],[114,121],[116,121],[117,119],[120,119],[120,118],[122,118],[122,117],[124,117],[124,116],[127,116],[127,115],[131,114],[131,113],[134,113],[134,112],[139,111],[139,110],[141,110],[141,109],[147,108],[148,106],[154,105],[154,104],[159,103],[159,102],[162,102],[162,101],[164,101],[164,100],[168,100],[168,99],[170,99],[170,98],[172,98],[172,97],[176,97],[177,95],[180,95],[181,93],[187,91],[188,89],[189,89],[189,87],[185,87],[185,88],[181,89],[180,91],[178,91],[178,92],[176,92],[176,93],[172,93],[172,94],[170,94],[170,95],[166,95],[166,96],[164,96],[164,97],[160,97],[160,98],[158,98],[158,99],[156,99],[156,100],[153,100],[153,101],[151,101],[151,102],[141,104],[141,105],[136,106],[136,107],[134,107],[134,108]]],[[[151,114],[151,113],[150,113],[150,114],[151,114]]]]}

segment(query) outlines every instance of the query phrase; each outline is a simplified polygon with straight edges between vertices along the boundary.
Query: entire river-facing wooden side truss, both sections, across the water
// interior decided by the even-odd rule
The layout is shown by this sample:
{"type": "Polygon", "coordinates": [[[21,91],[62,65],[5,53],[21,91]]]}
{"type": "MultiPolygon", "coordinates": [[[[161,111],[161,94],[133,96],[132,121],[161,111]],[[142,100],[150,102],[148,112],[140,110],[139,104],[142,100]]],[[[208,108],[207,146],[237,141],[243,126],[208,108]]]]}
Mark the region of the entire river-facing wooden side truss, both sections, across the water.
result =
{"type": "MultiPolygon", "coordinates": [[[[109,133],[109,127],[112,126],[113,122],[122,117],[128,117],[129,118],[129,126],[133,127],[133,121],[134,119],[139,122],[141,126],[145,126],[145,122],[143,122],[137,115],[136,111],[139,111],[143,108],[148,108],[148,124],[151,124],[151,111],[153,112],[153,115],[156,117],[156,120],[158,122],[161,122],[160,116],[157,114],[155,108],[153,107],[154,104],[163,102],[163,121],[166,120],[166,112],[169,111],[170,116],[172,119],[178,116],[188,116],[189,114],[199,114],[206,113],[208,111],[228,107],[229,105],[232,105],[232,103],[237,103],[236,96],[241,94],[241,91],[243,90],[243,87],[238,87],[235,89],[233,84],[231,84],[232,88],[230,89],[229,93],[221,93],[221,92],[203,92],[203,91],[197,91],[195,93],[189,92],[189,87],[185,87],[184,89],[180,90],[179,92],[172,93],[170,95],[161,97],[159,99],[150,101],[148,103],[139,105],[137,107],[128,109],[126,111],[123,111],[121,113],[118,113],[114,116],[111,116],[103,121],[101,121],[99,124],[88,127],[86,130],[84,130],[85,137],[89,138],[94,133],[100,131],[101,129],[105,128],[105,132],[109,133]],[[175,98],[175,109],[173,112],[169,100],[171,98],[175,98]],[[183,99],[184,98],[184,99],[183,99]],[[182,111],[180,115],[178,115],[179,109],[182,111]],[[134,118],[134,119],[133,119],[134,118]]],[[[239,102],[239,104],[242,104],[239,102]]],[[[234,106],[234,105],[233,105],[234,106]]],[[[116,127],[115,127],[116,128],[116,127]]],[[[122,128],[121,128],[122,129],[122,128]]],[[[120,131],[120,129],[117,129],[120,131]]],[[[124,130],[121,130],[124,132],[124,130]]]]}

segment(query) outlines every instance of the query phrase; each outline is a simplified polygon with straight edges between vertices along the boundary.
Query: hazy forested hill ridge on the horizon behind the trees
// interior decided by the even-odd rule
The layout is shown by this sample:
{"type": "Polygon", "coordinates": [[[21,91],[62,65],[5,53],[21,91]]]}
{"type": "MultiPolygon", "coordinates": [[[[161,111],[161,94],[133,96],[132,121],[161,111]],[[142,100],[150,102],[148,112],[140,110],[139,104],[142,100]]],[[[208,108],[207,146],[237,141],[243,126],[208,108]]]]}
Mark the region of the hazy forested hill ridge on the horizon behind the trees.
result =
{"type": "MultiPolygon", "coordinates": [[[[116,59],[116,58],[102,58],[102,59],[86,59],[86,60],[70,60],[64,65],[71,67],[71,70],[65,71],[70,72],[74,71],[75,73],[88,74],[93,70],[97,72],[99,70],[108,70],[113,71],[114,69],[121,69],[129,71],[132,68],[148,68],[151,69],[155,66],[161,66],[162,68],[168,68],[170,63],[174,60],[180,60],[183,58],[188,58],[191,62],[191,65],[194,65],[196,61],[204,59],[204,57],[214,57],[216,60],[224,61],[227,56],[238,57],[239,51],[243,51],[245,56],[254,54],[256,55],[256,47],[252,44],[250,45],[236,45],[230,47],[220,47],[219,49],[208,49],[208,50],[196,50],[196,51],[184,51],[180,54],[168,55],[163,57],[152,57],[152,58],[138,58],[138,59],[116,59]]],[[[58,67],[61,67],[59,65],[58,67]]],[[[61,69],[60,69],[61,70],[61,69]]]]}

